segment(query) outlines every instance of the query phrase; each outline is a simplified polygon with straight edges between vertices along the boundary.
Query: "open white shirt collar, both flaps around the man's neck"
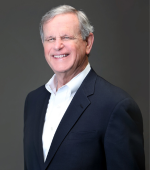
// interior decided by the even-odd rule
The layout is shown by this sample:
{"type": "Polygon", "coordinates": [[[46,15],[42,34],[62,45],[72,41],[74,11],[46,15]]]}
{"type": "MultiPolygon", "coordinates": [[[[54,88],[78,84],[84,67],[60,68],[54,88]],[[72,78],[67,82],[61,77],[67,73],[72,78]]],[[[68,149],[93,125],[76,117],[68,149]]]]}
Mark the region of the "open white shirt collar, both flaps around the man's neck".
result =
{"type": "MultiPolygon", "coordinates": [[[[80,72],[78,75],[76,75],[73,79],[71,79],[67,84],[64,86],[69,87],[71,90],[71,94],[75,94],[80,85],[82,84],[83,80],[87,76],[87,74],[90,72],[91,66],[88,63],[88,65],[85,67],[85,69],[80,72]]],[[[45,88],[50,92],[56,94],[56,87],[57,87],[57,78],[56,74],[53,75],[53,77],[45,84],[45,88]]]]}

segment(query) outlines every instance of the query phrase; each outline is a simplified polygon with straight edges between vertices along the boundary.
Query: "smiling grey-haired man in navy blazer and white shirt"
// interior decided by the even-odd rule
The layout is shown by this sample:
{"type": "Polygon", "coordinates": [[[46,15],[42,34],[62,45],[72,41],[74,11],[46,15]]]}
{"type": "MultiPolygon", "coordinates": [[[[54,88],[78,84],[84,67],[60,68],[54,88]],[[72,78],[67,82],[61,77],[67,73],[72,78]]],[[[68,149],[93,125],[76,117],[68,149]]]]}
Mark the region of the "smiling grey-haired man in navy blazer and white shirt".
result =
{"type": "Polygon", "coordinates": [[[92,32],[86,15],[67,5],[41,20],[55,74],[26,98],[25,170],[145,169],[140,110],[91,68],[92,32]]]}

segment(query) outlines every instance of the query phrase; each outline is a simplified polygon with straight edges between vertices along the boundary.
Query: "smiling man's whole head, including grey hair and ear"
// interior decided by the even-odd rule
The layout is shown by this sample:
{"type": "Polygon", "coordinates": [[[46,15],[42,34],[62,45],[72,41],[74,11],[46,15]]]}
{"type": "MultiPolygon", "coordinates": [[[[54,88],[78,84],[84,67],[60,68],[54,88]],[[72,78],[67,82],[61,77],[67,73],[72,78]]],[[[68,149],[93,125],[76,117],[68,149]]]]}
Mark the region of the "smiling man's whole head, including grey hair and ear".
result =
{"type": "Polygon", "coordinates": [[[56,75],[70,79],[86,67],[94,41],[91,31],[93,27],[85,14],[70,6],[52,9],[42,18],[45,58],[56,75]],[[84,27],[77,13],[82,16],[84,27]]]}

